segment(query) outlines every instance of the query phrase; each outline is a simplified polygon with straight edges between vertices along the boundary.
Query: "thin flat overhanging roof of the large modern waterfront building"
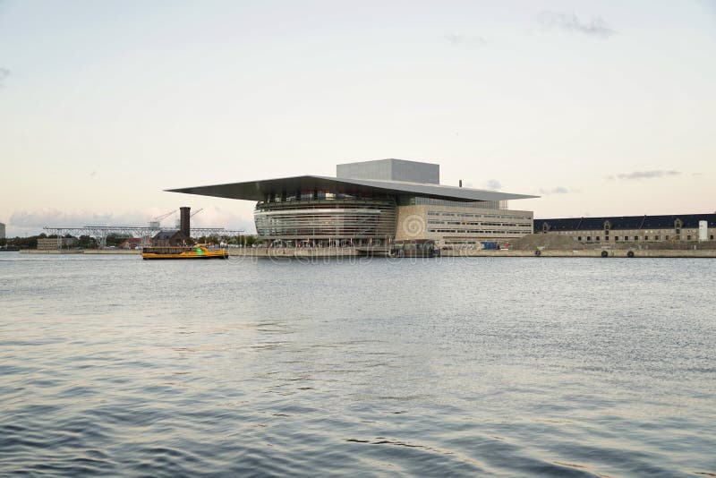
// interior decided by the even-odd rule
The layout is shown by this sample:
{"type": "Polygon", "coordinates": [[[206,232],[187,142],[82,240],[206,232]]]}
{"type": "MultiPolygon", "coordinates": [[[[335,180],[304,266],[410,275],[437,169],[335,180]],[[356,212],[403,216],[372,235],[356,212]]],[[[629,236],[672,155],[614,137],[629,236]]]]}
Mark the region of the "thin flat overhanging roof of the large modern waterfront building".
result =
{"type": "Polygon", "coordinates": [[[263,201],[267,194],[281,192],[311,191],[313,189],[355,194],[357,192],[379,192],[423,196],[447,201],[507,201],[537,198],[524,194],[485,191],[482,189],[441,186],[439,184],[406,183],[403,181],[378,181],[372,179],[349,179],[328,176],[295,176],[246,183],[214,184],[179,189],[167,189],[168,192],[183,192],[201,196],[215,196],[247,201],[263,201]]]}

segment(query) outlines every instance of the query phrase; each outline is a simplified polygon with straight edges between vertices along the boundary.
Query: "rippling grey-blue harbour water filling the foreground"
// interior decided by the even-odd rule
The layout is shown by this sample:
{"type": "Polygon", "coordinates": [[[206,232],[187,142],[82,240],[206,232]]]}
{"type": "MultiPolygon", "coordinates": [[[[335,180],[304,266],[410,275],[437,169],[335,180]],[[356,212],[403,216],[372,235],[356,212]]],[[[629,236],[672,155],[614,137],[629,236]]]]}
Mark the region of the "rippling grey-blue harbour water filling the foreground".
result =
{"type": "Polygon", "coordinates": [[[716,475],[713,260],[0,256],[0,474],[716,475]]]}

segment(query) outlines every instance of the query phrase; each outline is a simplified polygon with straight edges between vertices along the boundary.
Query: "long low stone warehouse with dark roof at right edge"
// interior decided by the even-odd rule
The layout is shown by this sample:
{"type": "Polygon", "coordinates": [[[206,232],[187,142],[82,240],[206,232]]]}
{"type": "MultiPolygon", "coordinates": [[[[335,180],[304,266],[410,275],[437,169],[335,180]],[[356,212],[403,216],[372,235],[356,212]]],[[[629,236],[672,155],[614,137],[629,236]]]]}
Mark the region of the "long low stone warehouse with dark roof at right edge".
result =
{"type": "Polygon", "coordinates": [[[534,232],[566,235],[576,243],[713,241],[716,214],[534,219],[534,232]]]}

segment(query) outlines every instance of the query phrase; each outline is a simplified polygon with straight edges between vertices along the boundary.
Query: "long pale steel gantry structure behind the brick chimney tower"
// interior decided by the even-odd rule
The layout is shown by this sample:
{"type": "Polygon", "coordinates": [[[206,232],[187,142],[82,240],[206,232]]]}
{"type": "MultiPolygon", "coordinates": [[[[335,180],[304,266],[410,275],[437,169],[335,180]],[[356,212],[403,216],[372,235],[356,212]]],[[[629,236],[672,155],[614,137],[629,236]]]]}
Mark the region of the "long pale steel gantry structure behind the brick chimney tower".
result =
{"type": "MultiPolygon", "coordinates": [[[[64,235],[72,235],[79,237],[81,235],[89,235],[94,237],[100,247],[107,246],[108,235],[128,235],[130,237],[140,237],[142,246],[149,245],[149,240],[162,231],[175,231],[176,227],[162,226],[82,226],[82,227],[43,227],[45,234],[57,236],[57,248],[62,247],[62,238],[64,235]]],[[[217,236],[232,237],[243,235],[243,230],[229,230],[223,227],[192,227],[192,237],[217,236]]]]}

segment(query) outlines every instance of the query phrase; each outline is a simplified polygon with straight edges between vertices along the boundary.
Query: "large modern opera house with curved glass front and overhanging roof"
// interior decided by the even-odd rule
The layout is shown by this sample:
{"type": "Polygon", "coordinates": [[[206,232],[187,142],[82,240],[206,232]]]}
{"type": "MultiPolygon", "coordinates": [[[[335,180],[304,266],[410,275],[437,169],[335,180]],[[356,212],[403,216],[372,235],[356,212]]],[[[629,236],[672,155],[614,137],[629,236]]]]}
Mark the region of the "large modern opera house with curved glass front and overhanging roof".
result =
{"type": "Polygon", "coordinates": [[[533,198],[439,184],[439,165],[381,159],[305,175],[168,190],[256,201],[260,240],[271,245],[383,245],[396,240],[470,244],[530,234],[533,213],[507,201],[533,198]]]}

